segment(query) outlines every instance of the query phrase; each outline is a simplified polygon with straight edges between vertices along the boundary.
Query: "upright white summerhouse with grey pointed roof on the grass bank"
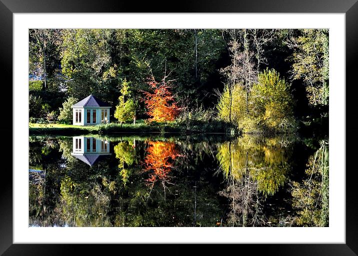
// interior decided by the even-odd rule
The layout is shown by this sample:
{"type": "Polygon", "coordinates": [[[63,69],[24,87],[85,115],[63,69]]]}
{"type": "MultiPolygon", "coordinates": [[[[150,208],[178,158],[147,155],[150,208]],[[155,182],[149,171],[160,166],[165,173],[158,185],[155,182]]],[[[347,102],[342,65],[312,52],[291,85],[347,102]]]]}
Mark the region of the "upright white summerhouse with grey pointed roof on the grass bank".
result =
{"type": "Polygon", "coordinates": [[[92,94],[72,105],[73,125],[95,125],[109,123],[110,106],[92,94]]]}

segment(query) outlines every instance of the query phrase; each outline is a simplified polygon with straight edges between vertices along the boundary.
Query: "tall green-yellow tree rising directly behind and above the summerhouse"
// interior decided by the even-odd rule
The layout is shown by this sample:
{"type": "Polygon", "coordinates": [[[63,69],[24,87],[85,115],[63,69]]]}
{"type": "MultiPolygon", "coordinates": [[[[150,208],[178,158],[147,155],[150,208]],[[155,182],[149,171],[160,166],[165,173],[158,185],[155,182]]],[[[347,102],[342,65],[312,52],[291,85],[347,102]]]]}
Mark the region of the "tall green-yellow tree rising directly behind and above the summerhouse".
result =
{"type": "Polygon", "coordinates": [[[114,29],[66,29],[63,32],[61,67],[69,94],[84,98],[96,94],[113,102],[117,84],[114,29]]]}

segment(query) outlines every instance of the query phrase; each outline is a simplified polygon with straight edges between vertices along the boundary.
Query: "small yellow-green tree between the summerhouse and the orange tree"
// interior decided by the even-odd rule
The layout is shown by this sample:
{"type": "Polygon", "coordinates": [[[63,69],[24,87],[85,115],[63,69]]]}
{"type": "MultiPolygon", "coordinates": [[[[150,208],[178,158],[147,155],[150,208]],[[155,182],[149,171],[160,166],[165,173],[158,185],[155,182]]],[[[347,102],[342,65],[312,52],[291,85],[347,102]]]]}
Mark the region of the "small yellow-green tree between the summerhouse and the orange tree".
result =
{"type": "Polygon", "coordinates": [[[133,119],[135,124],[135,111],[136,105],[132,99],[125,100],[124,97],[129,96],[129,84],[126,80],[122,83],[122,88],[120,89],[121,95],[118,98],[118,105],[115,107],[114,117],[118,119],[120,125],[123,122],[133,119]]]}

